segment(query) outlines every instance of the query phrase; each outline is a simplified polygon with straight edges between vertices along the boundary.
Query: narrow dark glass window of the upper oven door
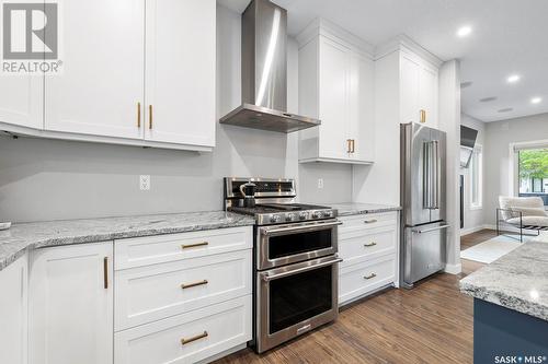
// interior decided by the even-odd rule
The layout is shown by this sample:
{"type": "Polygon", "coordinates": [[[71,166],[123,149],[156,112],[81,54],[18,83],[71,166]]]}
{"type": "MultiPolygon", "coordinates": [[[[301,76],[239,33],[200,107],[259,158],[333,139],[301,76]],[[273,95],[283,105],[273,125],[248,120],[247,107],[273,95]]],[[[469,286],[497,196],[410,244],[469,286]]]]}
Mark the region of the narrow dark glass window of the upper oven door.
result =
{"type": "Polygon", "coordinates": [[[315,232],[272,236],[269,240],[269,259],[283,258],[332,246],[332,228],[315,232]]]}

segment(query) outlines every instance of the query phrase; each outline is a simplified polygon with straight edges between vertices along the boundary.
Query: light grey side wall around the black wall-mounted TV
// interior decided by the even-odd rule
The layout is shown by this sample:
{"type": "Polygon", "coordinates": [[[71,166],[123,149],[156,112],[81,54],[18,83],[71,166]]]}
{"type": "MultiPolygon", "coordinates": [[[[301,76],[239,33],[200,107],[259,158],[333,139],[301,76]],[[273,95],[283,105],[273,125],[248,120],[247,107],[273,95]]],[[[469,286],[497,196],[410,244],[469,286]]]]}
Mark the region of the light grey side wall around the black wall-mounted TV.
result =
{"type": "Polygon", "coordinates": [[[484,221],[484,198],[486,198],[486,165],[488,163],[486,160],[486,150],[488,145],[486,145],[486,122],[475,119],[471,116],[466,114],[461,114],[460,122],[465,127],[469,127],[478,130],[478,138],[476,139],[476,144],[480,144],[483,151],[483,206],[481,209],[471,209],[471,181],[470,181],[470,169],[469,168],[460,168],[460,175],[464,176],[465,180],[465,227],[460,230],[461,234],[466,234],[482,227],[486,224],[484,221]]]}

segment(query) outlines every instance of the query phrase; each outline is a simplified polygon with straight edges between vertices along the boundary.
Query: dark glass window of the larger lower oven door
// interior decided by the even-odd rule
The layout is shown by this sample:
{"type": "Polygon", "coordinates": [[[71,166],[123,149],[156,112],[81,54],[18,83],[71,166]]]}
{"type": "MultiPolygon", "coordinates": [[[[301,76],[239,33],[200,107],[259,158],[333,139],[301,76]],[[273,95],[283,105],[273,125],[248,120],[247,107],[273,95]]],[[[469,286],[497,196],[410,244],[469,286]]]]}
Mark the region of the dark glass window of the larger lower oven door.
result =
{"type": "Polygon", "coordinates": [[[270,282],[270,333],[332,308],[332,269],[322,267],[270,282]]]}

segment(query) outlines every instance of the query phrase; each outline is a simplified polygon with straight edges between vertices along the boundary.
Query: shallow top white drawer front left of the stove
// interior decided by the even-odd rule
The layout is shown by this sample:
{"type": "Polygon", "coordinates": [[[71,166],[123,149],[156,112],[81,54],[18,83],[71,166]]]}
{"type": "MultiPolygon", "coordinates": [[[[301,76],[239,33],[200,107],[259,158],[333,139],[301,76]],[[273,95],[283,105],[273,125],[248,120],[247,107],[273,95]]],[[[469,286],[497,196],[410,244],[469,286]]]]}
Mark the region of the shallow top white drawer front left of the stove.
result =
{"type": "Polygon", "coordinates": [[[114,244],[115,269],[250,249],[252,246],[252,226],[119,239],[114,244]]]}

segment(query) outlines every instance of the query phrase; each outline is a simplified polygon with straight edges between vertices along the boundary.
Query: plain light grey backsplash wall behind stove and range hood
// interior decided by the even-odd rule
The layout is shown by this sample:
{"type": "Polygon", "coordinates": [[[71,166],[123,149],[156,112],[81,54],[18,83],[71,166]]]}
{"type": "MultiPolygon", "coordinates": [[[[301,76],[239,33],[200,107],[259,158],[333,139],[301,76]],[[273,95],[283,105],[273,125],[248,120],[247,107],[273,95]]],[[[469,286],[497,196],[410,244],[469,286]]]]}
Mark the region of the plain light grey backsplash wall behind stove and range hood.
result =
{"type": "MultiPolygon", "coordinates": [[[[217,116],[240,104],[240,15],[218,7],[217,116]]],[[[297,45],[288,47],[288,110],[298,110],[297,45]]],[[[182,101],[184,103],[184,101],[182,101]]],[[[217,125],[213,153],[0,138],[0,221],[44,221],[222,208],[224,176],[298,178],[309,202],[351,200],[351,167],[300,166],[298,134],[217,125]],[[138,176],[151,176],[151,190],[138,176]],[[318,190],[317,179],[324,179],[318,190]]]]}

